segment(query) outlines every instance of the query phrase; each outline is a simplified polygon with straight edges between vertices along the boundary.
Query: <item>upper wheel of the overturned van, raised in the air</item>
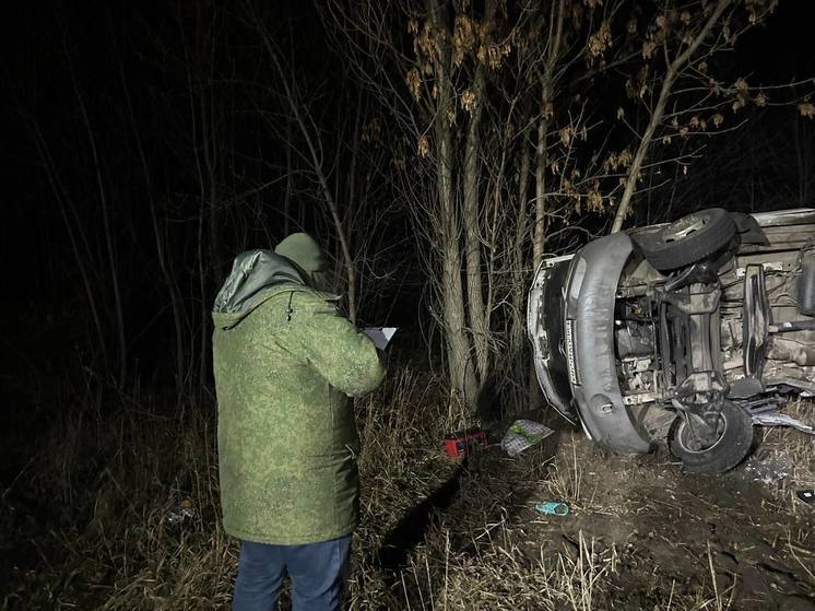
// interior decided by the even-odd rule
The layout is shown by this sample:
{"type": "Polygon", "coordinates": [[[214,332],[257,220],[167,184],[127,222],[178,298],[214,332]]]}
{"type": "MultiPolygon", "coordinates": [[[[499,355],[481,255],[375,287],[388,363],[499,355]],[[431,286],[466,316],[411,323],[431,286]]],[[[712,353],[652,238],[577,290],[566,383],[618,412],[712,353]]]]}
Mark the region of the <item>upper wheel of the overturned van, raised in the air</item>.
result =
{"type": "Polygon", "coordinates": [[[646,259],[660,271],[695,263],[733,239],[733,216],[722,208],[699,210],[639,240],[646,259]]]}

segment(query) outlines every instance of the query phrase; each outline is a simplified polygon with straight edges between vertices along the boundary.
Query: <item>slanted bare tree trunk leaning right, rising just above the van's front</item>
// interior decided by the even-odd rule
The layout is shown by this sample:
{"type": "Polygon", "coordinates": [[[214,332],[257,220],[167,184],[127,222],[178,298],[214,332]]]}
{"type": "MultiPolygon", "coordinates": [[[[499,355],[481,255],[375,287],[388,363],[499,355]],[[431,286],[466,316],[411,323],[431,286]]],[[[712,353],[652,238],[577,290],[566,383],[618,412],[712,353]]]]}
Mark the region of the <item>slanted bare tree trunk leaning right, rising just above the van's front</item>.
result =
{"type": "Polygon", "coordinates": [[[676,59],[669,63],[668,70],[665,72],[665,78],[662,81],[662,87],[660,89],[660,95],[657,98],[657,106],[654,106],[653,111],[651,113],[651,118],[648,121],[646,132],[642,134],[642,139],[639,141],[637,152],[634,155],[634,161],[631,162],[631,166],[628,168],[628,177],[626,178],[623,199],[619,200],[617,212],[614,215],[614,223],[612,224],[611,233],[617,233],[623,228],[623,222],[628,215],[628,209],[631,205],[631,197],[634,197],[634,193],[637,190],[637,180],[639,179],[639,172],[642,168],[642,162],[646,160],[648,149],[651,145],[653,134],[657,131],[657,127],[660,125],[660,122],[662,121],[662,117],[665,114],[665,105],[668,104],[668,98],[671,96],[673,84],[676,81],[676,78],[680,75],[680,71],[693,57],[702,40],[707,38],[708,34],[710,34],[713,25],[716,25],[716,22],[719,21],[719,17],[721,17],[724,9],[727,9],[728,4],[730,4],[732,0],[719,0],[719,2],[716,4],[716,9],[713,9],[713,12],[708,17],[708,21],[699,31],[699,34],[696,36],[696,38],[694,38],[694,42],[690,43],[690,46],[688,46],[688,48],[680,54],[676,59]]]}

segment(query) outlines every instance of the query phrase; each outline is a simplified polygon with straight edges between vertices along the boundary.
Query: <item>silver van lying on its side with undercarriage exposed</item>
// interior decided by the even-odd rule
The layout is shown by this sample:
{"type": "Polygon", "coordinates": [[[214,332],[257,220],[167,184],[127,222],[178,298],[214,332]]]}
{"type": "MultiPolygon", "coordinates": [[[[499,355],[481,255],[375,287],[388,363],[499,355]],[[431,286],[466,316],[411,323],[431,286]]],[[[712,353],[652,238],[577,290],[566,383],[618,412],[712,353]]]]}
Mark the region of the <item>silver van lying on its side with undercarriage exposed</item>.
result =
{"type": "Polygon", "coordinates": [[[539,303],[530,302],[547,398],[612,449],[647,451],[666,437],[688,471],[734,467],[751,449],[754,424],[813,432],[778,411],[791,393],[815,392],[815,213],[805,212],[710,209],[553,260],[533,285],[539,303]],[[556,293],[557,267],[562,338],[551,318],[532,312],[556,293]],[[610,277],[613,301],[603,294],[610,277]],[[595,348],[606,340],[609,356],[595,348]],[[569,392],[555,375],[558,351],[569,392]]]}

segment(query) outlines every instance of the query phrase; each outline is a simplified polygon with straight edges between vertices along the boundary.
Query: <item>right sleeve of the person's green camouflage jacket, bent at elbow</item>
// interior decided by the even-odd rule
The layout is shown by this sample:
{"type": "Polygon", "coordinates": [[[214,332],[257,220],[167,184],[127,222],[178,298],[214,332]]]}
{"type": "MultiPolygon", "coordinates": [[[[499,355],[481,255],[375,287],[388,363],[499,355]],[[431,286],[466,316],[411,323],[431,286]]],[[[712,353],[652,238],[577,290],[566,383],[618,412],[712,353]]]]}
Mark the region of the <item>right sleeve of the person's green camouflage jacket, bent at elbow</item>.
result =
{"type": "Polygon", "coordinates": [[[376,345],[336,308],[317,295],[298,292],[292,304],[288,348],[328,383],[350,397],[374,390],[385,377],[376,345]]]}

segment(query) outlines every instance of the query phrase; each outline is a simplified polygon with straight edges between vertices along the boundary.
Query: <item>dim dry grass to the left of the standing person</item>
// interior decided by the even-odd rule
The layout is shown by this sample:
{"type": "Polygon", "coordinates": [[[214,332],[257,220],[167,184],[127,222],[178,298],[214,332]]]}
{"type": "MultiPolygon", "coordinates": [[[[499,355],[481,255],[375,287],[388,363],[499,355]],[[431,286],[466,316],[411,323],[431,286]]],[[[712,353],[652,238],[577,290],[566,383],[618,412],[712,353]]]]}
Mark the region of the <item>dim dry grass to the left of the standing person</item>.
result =
{"type": "Polygon", "coordinates": [[[236,547],[217,516],[212,414],[154,406],[55,423],[21,491],[37,527],[34,572],[16,575],[5,608],[225,608],[236,547]],[[190,498],[194,517],[168,517],[190,498]]]}

